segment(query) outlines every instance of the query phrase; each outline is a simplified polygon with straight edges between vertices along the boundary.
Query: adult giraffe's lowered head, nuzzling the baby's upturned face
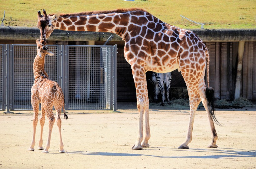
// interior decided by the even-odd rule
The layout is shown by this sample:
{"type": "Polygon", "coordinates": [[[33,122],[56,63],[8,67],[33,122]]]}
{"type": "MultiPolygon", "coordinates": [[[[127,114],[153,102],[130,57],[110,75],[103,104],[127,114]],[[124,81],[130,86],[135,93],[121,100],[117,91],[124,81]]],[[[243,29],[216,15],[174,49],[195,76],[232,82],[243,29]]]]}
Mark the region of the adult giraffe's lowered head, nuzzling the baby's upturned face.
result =
{"type": "Polygon", "coordinates": [[[59,17],[60,17],[60,12],[57,12],[53,16],[49,16],[46,14],[45,10],[43,10],[43,15],[41,15],[41,12],[38,11],[37,28],[39,28],[40,34],[41,34],[40,41],[44,45],[47,43],[46,39],[49,38],[49,36],[54,30],[52,21],[56,21],[59,17]]]}

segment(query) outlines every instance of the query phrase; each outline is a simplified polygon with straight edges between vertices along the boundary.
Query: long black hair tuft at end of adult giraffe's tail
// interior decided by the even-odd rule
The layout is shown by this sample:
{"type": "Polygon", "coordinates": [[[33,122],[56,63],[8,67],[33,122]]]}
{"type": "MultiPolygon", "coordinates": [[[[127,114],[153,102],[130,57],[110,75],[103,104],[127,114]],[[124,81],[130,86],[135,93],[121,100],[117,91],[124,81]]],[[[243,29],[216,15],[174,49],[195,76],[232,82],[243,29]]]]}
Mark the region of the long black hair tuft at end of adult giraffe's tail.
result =
{"type": "Polygon", "coordinates": [[[207,99],[207,107],[208,107],[211,118],[215,121],[217,125],[221,126],[221,124],[219,124],[219,121],[216,119],[214,115],[214,102],[215,102],[214,89],[211,87],[206,87],[205,95],[207,99]]]}

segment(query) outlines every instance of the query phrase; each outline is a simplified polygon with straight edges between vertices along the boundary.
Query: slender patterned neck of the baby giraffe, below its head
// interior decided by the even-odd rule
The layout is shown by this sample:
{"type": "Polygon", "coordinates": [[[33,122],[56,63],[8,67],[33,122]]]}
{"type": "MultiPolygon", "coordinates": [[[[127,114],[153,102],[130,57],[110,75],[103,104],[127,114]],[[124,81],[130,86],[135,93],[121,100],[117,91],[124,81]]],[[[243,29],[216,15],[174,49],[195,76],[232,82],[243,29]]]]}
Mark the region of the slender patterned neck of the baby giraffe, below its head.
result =
{"type": "Polygon", "coordinates": [[[34,64],[33,64],[33,71],[34,71],[34,78],[39,79],[41,77],[48,78],[47,73],[44,71],[44,58],[45,56],[43,56],[40,58],[38,55],[35,57],[34,59],[34,64]]]}

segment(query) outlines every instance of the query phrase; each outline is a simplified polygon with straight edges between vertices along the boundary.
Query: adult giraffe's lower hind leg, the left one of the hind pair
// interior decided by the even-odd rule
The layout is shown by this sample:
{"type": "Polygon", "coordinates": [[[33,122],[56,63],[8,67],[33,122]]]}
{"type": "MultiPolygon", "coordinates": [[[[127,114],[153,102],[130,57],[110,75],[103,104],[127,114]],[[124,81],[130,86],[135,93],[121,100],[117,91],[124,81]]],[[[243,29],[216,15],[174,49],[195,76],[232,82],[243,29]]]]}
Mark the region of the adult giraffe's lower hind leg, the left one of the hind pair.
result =
{"type": "Polygon", "coordinates": [[[200,97],[199,94],[195,96],[195,98],[190,97],[190,119],[189,119],[189,127],[188,127],[188,132],[187,132],[187,137],[185,140],[185,143],[181,144],[180,147],[182,149],[188,149],[189,146],[188,144],[192,141],[192,131],[193,131],[193,124],[194,124],[194,117],[195,117],[195,112],[200,103],[200,97]]]}

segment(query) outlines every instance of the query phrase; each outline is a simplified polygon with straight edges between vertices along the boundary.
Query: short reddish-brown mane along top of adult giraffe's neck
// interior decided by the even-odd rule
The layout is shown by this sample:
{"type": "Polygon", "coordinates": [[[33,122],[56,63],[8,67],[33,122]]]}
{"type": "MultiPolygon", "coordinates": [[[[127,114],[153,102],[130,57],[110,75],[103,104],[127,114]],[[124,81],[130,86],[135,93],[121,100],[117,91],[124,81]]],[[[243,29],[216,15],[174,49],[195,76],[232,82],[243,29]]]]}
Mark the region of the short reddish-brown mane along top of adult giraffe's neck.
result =
{"type": "MultiPolygon", "coordinates": [[[[86,12],[78,12],[78,13],[60,13],[60,16],[69,17],[69,16],[84,16],[84,15],[93,15],[93,14],[107,14],[107,13],[121,13],[121,12],[128,12],[128,11],[144,11],[147,12],[145,9],[142,8],[120,8],[114,10],[107,10],[107,11],[86,11],[86,12]]],[[[53,16],[55,13],[49,14],[49,16],[53,16]]]]}

